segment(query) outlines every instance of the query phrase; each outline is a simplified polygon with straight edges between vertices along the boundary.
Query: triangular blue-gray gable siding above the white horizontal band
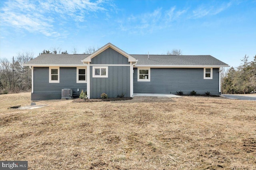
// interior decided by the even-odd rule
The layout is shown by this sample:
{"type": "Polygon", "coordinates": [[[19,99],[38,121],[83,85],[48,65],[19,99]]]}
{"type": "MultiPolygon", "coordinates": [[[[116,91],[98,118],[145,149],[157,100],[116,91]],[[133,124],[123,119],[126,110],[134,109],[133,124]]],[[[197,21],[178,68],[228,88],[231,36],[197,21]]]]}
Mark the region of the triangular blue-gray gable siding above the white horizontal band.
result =
{"type": "Polygon", "coordinates": [[[108,48],[102,53],[92,58],[90,64],[130,64],[128,58],[118,53],[112,48],[108,48]]]}

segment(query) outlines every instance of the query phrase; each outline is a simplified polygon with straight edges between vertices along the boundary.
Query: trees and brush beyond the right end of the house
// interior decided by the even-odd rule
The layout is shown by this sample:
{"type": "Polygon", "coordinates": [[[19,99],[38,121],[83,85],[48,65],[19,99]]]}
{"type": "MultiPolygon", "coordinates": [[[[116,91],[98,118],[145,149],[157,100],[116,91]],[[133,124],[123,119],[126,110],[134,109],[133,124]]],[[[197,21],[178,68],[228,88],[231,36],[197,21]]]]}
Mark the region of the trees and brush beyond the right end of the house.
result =
{"type": "Polygon", "coordinates": [[[222,74],[223,94],[249,94],[256,91],[256,55],[253,61],[244,56],[237,68],[231,67],[222,74]]]}

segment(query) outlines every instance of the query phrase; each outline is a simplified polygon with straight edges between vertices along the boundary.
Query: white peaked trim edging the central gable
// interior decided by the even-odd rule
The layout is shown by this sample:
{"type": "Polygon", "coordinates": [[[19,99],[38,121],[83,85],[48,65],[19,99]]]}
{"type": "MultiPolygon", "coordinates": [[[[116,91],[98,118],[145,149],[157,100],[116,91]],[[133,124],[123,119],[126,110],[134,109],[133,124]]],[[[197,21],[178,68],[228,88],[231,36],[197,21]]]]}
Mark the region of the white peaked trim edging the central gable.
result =
{"type": "Polygon", "coordinates": [[[102,51],[105,51],[108,48],[112,48],[115,51],[117,51],[118,53],[124,55],[125,57],[128,58],[128,62],[136,62],[136,59],[134,57],[132,57],[131,55],[127,54],[126,52],[122,51],[121,49],[119,49],[118,47],[114,46],[111,43],[107,43],[106,45],[104,45],[103,47],[101,47],[100,49],[98,49],[97,51],[95,51],[94,53],[92,53],[91,55],[88,55],[83,62],[91,62],[91,59],[93,57],[95,57],[96,55],[100,54],[102,51]]]}

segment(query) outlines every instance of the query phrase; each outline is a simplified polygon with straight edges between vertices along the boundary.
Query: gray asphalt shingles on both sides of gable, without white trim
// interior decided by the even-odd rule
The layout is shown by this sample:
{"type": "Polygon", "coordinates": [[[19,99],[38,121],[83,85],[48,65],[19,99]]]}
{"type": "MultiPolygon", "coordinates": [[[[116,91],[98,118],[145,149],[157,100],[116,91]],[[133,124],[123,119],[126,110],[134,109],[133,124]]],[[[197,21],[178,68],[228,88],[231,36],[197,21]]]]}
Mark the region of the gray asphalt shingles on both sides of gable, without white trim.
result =
{"type": "MultiPolygon", "coordinates": [[[[88,57],[88,54],[41,54],[35,59],[28,61],[24,65],[83,65],[82,60],[88,57]]],[[[212,57],[211,55],[131,55],[138,60],[136,66],[140,65],[213,65],[228,66],[228,64],[212,57]]]]}

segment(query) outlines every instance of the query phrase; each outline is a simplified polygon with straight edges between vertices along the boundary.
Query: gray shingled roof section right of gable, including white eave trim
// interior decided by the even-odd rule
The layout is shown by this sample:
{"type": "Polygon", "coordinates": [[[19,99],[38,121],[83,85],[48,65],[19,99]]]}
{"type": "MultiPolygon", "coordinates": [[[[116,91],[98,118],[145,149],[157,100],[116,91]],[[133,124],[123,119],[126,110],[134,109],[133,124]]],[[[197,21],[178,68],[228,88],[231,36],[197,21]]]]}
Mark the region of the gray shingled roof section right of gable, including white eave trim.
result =
{"type": "Polygon", "coordinates": [[[131,55],[138,62],[135,66],[178,66],[178,67],[227,67],[228,64],[211,55],[131,55]]]}

